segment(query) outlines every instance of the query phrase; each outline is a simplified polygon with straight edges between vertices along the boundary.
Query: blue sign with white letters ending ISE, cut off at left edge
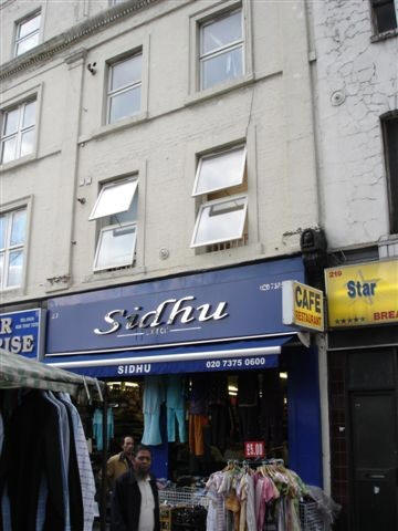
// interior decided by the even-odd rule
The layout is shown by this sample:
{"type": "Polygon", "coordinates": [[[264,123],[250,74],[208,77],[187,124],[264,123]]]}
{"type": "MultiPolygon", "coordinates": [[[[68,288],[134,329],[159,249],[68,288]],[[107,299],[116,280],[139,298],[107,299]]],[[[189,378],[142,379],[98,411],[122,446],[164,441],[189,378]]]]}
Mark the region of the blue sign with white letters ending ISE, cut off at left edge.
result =
{"type": "Polygon", "coordinates": [[[0,314],[0,347],[39,360],[43,353],[45,310],[21,310],[0,314]]]}

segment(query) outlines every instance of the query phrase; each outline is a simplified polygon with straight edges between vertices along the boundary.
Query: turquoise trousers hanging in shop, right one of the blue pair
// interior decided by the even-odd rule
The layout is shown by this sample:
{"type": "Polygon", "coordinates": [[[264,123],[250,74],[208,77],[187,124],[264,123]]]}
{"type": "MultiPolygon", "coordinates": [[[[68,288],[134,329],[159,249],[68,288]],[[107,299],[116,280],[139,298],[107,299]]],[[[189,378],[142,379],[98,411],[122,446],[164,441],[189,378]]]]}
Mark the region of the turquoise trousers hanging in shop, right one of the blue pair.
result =
{"type": "Polygon", "coordinates": [[[176,441],[176,420],[180,442],[187,441],[187,428],[185,420],[185,379],[179,374],[171,374],[167,379],[166,406],[167,406],[167,438],[169,442],[176,441]]]}

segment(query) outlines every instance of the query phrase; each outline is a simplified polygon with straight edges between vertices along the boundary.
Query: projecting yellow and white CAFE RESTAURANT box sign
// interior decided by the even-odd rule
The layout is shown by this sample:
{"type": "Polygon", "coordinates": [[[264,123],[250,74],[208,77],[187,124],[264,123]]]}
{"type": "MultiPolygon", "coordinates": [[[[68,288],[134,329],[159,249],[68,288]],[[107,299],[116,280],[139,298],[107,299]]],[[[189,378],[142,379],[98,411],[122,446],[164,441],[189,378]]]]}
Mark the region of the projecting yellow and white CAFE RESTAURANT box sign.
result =
{"type": "Polygon", "coordinates": [[[323,292],[294,280],[282,283],[283,324],[324,331],[323,292]]]}

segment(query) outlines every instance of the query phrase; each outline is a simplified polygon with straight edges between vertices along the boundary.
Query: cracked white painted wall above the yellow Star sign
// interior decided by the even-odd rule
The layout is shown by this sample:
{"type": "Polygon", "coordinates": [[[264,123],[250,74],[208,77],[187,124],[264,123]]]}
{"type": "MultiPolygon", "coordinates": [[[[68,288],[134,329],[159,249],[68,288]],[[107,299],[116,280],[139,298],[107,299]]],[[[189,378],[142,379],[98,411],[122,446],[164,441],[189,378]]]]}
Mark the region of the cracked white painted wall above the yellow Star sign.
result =
{"type": "Polygon", "coordinates": [[[398,108],[398,35],[373,42],[365,0],[312,8],[322,225],[331,248],[377,243],[389,231],[379,117],[398,108]]]}

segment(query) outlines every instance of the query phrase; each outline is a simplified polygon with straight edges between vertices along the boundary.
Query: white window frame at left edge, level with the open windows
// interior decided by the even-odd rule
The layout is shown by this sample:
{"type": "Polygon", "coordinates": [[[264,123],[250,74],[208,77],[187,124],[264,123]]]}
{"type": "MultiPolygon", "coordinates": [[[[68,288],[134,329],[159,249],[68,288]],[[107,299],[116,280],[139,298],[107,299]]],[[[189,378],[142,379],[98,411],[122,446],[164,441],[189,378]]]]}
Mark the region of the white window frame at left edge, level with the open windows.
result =
{"type": "Polygon", "coordinates": [[[21,205],[12,209],[8,209],[4,211],[0,211],[0,216],[4,216],[7,220],[6,225],[6,235],[4,235],[4,247],[0,248],[0,256],[3,256],[3,275],[0,279],[0,292],[8,292],[11,290],[19,290],[24,284],[24,271],[27,268],[27,243],[28,243],[28,227],[29,227],[29,209],[27,205],[21,205]],[[12,223],[13,217],[17,212],[24,211],[25,212],[25,227],[24,227],[24,240],[23,243],[17,243],[11,246],[11,232],[12,232],[12,223]],[[19,284],[7,285],[9,279],[9,266],[10,266],[10,254],[12,252],[22,251],[23,262],[22,262],[22,270],[21,270],[21,279],[19,284]]]}

